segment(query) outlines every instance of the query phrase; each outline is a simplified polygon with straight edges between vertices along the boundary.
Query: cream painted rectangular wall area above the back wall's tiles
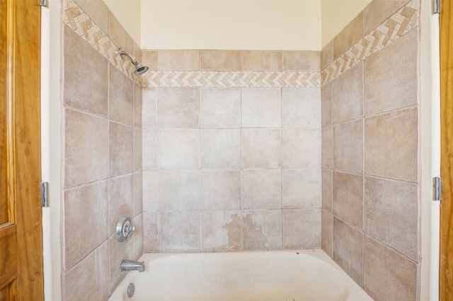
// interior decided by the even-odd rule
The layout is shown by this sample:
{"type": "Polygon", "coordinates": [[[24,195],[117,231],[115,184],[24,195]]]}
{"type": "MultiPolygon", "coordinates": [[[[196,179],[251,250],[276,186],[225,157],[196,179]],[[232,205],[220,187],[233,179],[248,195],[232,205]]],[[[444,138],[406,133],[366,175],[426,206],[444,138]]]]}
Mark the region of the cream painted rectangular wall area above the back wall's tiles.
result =
{"type": "Polygon", "coordinates": [[[321,0],[144,0],[142,49],[321,50],[321,0]]]}

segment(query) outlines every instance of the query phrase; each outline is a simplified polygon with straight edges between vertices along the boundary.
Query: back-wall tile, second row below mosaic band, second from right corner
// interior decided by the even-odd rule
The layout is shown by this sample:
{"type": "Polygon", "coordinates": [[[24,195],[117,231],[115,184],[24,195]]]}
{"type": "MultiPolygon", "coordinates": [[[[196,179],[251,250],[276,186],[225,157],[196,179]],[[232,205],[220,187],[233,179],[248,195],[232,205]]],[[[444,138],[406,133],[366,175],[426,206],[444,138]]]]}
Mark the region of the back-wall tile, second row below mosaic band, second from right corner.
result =
{"type": "Polygon", "coordinates": [[[242,167],[282,167],[280,129],[242,129],[242,167]]]}

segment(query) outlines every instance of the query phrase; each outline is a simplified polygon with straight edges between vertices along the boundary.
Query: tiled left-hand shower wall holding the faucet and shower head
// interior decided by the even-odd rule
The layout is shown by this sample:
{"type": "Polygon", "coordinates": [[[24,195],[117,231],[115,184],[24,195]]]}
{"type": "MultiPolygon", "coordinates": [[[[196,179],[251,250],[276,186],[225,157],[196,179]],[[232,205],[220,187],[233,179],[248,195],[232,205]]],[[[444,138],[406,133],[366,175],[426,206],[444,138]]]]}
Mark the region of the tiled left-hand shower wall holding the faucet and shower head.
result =
{"type": "Polygon", "coordinates": [[[64,3],[62,298],[107,300],[121,261],[142,255],[142,88],[113,56],[141,50],[102,1],[76,4],[64,3]],[[120,243],[122,215],[136,230],[120,243]]]}

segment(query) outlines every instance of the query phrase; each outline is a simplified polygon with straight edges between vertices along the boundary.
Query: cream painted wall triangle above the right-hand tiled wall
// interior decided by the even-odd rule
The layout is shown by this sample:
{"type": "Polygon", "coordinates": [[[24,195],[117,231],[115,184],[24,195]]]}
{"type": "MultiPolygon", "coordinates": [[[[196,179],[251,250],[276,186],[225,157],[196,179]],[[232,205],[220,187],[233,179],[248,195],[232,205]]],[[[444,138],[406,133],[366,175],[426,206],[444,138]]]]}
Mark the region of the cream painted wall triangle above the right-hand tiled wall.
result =
{"type": "Polygon", "coordinates": [[[372,0],[321,0],[321,47],[357,16],[372,0]]]}

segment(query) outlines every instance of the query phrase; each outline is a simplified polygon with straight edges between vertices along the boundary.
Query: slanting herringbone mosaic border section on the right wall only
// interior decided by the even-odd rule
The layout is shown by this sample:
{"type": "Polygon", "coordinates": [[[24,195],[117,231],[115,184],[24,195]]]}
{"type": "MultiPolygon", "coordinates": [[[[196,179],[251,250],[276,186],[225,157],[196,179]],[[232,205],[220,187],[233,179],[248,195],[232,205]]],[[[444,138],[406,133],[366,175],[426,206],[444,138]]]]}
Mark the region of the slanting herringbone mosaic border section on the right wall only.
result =
{"type": "Polygon", "coordinates": [[[333,81],[333,79],[348,71],[360,61],[417,27],[419,20],[418,6],[418,0],[409,2],[394,13],[393,16],[386,19],[384,23],[372,30],[371,33],[365,35],[362,40],[350,47],[341,57],[338,57],[321,72],[321,84],[325,85],[333,81]]]}

